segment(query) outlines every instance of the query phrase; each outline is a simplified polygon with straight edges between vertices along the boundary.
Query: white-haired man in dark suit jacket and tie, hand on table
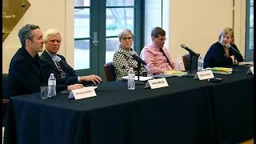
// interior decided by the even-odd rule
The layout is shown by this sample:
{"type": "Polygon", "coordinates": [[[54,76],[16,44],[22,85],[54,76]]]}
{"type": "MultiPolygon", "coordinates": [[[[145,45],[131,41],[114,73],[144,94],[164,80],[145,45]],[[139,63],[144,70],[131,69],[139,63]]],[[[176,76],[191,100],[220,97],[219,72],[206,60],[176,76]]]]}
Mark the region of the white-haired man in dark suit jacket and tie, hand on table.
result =
{"type": "Polygon", "coordinates": [[[62,42],[62,33],[56,29],[47,30],[43,36],[46,50],[40,56],[42,60],[42,68],[44,70],[44,78],[49,78],[50,74],[54,74],[56,78],[56,90],[75,90],[82,88],[83,84],[99,83],[102,78],[98,75],[89,75],[78,77],[74,69],[66,63],[66,58],[57,54],[62,42]]]}

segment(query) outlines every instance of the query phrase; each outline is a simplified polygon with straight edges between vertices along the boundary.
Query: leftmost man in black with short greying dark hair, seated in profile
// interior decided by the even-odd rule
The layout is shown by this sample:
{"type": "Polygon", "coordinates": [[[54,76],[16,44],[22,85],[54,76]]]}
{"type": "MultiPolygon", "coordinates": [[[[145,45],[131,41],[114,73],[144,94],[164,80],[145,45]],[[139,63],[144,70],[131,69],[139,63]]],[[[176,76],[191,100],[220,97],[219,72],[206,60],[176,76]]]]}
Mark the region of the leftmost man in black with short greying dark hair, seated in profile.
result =
{"type": "Polygon", "coordinates": [[[8,97],[40,92],[44,86],[38,52],[42,52],[43,38],[39,26],[27,24],[18,32],[22,47],[10,61],[8,97]]]}

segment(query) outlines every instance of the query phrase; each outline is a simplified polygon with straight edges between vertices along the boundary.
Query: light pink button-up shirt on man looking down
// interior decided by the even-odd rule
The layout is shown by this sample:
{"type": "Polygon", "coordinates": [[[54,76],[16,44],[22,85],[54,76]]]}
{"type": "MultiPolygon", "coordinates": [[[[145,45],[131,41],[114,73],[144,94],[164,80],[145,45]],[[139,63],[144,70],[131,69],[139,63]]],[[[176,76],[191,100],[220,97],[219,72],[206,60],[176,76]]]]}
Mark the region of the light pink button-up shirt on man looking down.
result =
{"type": "Polygon", "coordinates": [[[161,74],[166,70],[175,69],[175,63],[171,60],[169,51],[165,46],[162,47],[162,50],[169,58],[171,66],[158,47],[147,45],[142,49],[141,58],[147,63],[145,67],[147,70],[153,70],[154,74],[161,74]]]}

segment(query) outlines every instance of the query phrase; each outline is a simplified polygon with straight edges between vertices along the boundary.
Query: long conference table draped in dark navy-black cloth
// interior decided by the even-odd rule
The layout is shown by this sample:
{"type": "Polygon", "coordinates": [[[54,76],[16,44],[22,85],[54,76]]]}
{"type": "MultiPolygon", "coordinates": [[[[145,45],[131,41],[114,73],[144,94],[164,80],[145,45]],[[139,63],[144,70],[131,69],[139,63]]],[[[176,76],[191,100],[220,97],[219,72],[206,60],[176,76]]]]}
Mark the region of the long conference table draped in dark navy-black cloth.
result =
{"type": "Polygon", "coordinates": [[[253,138],[254,76],[249,67],[219,83],[166,78],[169,86],[127,89],[127,82],[102,82],[97,96],[68,94],[10,98],[5,144],[215,144],[253,138]]]}

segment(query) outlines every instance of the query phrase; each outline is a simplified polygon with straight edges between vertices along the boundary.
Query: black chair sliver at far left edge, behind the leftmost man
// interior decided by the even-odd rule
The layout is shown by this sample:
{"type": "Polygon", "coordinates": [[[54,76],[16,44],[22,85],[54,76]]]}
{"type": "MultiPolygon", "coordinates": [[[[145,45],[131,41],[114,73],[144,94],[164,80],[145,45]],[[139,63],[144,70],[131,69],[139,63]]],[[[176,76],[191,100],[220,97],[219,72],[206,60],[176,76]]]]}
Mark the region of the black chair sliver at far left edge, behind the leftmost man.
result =
{"type": "Polygon", "coordinates": [[[6,109],[9,103],[9,98],[7,97],[7,82],[8,74],[2,74],[2,126],[4,126],[6,109]]]}

